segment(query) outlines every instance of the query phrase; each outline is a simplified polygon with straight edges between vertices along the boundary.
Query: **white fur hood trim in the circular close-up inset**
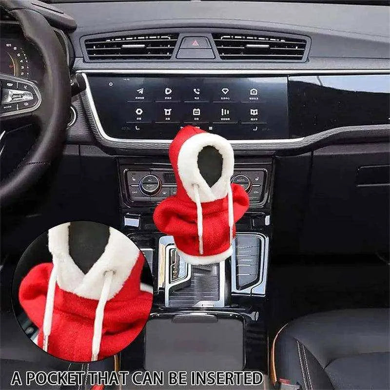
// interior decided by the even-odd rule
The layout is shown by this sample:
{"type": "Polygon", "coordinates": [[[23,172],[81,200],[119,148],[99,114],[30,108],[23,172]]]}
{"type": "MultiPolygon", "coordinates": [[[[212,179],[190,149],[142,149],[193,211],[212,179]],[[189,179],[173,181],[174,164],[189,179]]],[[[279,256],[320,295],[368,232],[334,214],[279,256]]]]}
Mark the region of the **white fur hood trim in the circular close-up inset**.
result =
{"type": "Polygon", "coordinates": [[[57,283],[62,290],[83,298],[99,299],[104,273],[114,271],[108,299],[120,291],[137,262],[139,249],[126,235],[109,228],[110,236],[103,254],[84,274],[69,254],[69,225],[64,223],[49,229],[49,251],[58,266],[57,283]]]}

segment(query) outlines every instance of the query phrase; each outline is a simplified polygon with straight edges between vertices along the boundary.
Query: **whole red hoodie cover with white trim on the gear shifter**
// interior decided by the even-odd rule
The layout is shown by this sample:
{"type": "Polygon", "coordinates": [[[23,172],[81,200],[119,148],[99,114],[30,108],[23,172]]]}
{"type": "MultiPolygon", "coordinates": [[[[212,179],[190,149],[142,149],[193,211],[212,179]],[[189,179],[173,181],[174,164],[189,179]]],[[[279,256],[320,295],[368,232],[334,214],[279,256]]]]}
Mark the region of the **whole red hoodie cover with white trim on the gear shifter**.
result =
{"type": "Polygon", "coordinates": [[[178,253],[190,264],[223,261],[232,254],[235,222],[249,207],[249,198],[231,184],[234,153],[225,138],[194,126],[182,128],[172,141],[169,158],[177,194],[163,200],[153,215],[157,228],[174,236],[178,253]],[[222,156],[220,177],[211,187],[201,175],[198,155],[206,146],[222,156]]]}

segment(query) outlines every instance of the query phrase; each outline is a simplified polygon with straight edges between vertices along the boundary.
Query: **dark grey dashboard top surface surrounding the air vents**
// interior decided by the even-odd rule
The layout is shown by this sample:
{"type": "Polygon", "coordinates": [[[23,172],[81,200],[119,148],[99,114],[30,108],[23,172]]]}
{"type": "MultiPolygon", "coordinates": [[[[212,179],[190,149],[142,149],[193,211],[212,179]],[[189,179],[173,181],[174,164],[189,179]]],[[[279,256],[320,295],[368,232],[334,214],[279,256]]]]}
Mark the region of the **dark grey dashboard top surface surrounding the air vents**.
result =
{"type": "MultiPolygon", "coordinates": [[[[177,68],[176,63],[133,61],[84,63],[80,39],[86,35],[142,29],[252,29],[311,38],[304,63],[182,63],[181,68],[218,69],[388,69],[388,7],[256,1],[116,1],[57,3],[73,16],[70,35],[76,69],[177,68]],[[324,17],[326,15],[326,17],[324,17]]],[[[168,31],[168,30],[167,30],[168,31]]]]}

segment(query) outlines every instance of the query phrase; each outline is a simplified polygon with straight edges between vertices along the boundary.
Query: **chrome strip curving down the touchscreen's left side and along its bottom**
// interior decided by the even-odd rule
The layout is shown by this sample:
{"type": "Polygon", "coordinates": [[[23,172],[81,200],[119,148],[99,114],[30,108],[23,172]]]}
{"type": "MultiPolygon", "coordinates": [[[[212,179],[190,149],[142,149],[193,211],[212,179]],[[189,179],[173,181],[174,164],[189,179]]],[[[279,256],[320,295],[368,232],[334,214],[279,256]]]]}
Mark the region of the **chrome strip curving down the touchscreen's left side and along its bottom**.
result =
{"type": "MultiPolygon", "coordinates": [[[[112,141],[112,142],[130,142],[130,143],[134,143],[134,144],[159,143],[159,144],[165,144],[167,146],[167,148],[169,147],[169,145],[172,142],[172,139],[124,139],[124,138],[122,139],[122,138],[110,137],[104,131],[103,126],[101,125],[101,122],[100,122],[100,119],[98,116],[98,111],[96,110],[94,98],[92,97],[91,88],[89,86],[88,77],[85,73],[81,73],[81,75],[85,80],[85,85],[86,85],[85,93],[86,93],[86,96],[88,99],[89,106],[90,106],[91,111],[92,111],[92,115],[93,115],[94,120],[95,120],[96,127],[97,127],[98,132],[100,133],[101,137],[103,137],[107,141],[112,141]]],[[[235,140],[234,139],[234,140],[230,140],[229,142],[231,144],[235,144],[235,143],[237,143],[237,144],[295,143],[295,142],[302,141],[303,139],[304,139],[304,137],[291,138],[291,139],[249,139],[249,140],[241,140],[241,139],[235,140]]]]}

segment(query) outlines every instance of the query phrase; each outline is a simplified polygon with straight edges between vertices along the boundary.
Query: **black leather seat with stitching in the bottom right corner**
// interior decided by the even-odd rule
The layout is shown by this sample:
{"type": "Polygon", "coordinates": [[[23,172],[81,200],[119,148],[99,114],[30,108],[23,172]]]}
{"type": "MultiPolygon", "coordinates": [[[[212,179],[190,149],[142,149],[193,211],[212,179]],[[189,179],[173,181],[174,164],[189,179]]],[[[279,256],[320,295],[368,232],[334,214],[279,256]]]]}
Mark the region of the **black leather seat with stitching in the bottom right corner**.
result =
{"type": "Polygon", "coordinates": [[[310,314],[273,341],[271,380],[311,389],[390,389],[389,309],[310,314]]]}

